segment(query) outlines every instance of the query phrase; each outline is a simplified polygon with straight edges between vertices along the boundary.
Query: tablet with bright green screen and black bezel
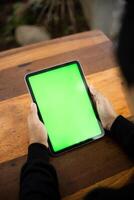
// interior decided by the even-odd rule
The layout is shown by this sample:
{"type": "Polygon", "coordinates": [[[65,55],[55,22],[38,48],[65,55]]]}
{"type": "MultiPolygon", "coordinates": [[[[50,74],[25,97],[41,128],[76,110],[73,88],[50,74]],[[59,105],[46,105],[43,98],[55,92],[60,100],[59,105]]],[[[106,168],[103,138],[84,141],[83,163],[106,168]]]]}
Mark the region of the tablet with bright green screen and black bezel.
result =
{"type": "Polygon", "coordinates": [[[53,155],[104,135],[78,61],[32,72],[25,80],[47,129],[53,155]]]}

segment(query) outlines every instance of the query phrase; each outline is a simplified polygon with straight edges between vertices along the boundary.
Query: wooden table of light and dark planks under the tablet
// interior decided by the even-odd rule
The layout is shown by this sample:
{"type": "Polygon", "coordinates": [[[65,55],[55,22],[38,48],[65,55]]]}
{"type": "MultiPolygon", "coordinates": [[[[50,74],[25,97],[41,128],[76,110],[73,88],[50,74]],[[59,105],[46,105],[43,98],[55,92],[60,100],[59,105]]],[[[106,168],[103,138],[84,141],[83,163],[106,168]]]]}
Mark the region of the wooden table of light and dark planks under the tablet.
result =
{"type": "MultiPolygon", "coordinates": [[[[17,199],[19,173],[27,154],[30,97],[27,72],[79,60],[87,81],[105,94],[116,111],[130,117],[124,81],[112,54],[112,43],[100,31],[13,49],[0,54],[0,199],[17,199]]],[[[133,163],[109,136],[52,158],[64,199],[81,199],[98,185],[121,186],[133,163]],[[95,185],[94,185],[95,184],[95,185]]]]}

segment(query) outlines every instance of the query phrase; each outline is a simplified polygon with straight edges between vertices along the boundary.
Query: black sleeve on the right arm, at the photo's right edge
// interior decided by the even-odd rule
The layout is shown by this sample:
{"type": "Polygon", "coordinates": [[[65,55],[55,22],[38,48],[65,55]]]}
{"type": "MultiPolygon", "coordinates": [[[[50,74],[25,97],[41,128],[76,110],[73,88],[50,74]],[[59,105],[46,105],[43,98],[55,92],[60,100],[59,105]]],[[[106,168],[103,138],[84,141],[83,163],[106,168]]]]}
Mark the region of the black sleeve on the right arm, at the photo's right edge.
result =
{"type": "Polygon", "coordinates": [[[134,158],[134,124],[124,117],[118,116],[111,127],[111,134],[134,158]]]}

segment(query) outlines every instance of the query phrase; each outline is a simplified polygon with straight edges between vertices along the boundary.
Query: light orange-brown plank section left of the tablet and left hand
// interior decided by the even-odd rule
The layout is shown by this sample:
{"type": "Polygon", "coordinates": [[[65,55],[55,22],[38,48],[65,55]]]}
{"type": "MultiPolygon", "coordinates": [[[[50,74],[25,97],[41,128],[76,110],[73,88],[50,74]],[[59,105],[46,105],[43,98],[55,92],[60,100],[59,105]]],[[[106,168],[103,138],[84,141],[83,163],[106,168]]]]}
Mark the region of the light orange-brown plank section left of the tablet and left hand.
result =
{"type": "Polygon", "coordinates": [[[0,163],[27,153],[29,103],[28,95],[0,103],[0,163]]]}

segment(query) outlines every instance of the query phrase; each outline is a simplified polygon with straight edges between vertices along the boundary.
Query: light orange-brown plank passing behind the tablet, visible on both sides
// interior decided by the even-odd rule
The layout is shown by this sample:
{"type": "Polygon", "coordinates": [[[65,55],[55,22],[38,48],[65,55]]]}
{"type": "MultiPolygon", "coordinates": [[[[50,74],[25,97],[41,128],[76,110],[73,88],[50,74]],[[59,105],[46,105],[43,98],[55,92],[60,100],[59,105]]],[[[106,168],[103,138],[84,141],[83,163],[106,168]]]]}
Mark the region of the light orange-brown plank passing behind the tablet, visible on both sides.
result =
{"type": "MultiPolygon", "coordinates": [[[[87,77],[87,81],[111,100],[119,114],[125,117],[131,116],[122,92],[122,81],[117,68],[90,75],[87,77]]],[[[0,115],[0,127],[2,127],[0,134],[0,162],[14,159],[26,153],[26,133],[28,131],[26,120],[29,103],[28,95],[0,102],[0,113],[3,113],[0,115]]]]}

